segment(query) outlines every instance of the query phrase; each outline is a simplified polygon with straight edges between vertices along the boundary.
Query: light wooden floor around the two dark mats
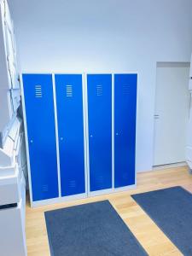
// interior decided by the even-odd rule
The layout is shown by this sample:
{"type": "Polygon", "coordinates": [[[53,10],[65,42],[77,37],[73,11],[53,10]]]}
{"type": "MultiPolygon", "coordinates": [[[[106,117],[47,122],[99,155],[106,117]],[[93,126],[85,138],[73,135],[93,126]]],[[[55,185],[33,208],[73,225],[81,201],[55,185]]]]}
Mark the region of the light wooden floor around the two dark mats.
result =
{"type": "Polygon", "coordinates": [[[29,203],[27,202],[26,243],[28,256],[49,255],[44,211],[106,199],[108,199],[116,211],[119,212],[120,217],[123,218],[125,224],[131,229],[149,255],[182,255],[177,247],[172,244],[130,196],[131,194],[169,188],[176,185],[181,185],[192,191],[192,175],[189,175],[186,167],[139,173],[137,174],[137,189],[115,193],[113,195],[96,196],[89,199],[33,209],[29,207],[29,203]]]}

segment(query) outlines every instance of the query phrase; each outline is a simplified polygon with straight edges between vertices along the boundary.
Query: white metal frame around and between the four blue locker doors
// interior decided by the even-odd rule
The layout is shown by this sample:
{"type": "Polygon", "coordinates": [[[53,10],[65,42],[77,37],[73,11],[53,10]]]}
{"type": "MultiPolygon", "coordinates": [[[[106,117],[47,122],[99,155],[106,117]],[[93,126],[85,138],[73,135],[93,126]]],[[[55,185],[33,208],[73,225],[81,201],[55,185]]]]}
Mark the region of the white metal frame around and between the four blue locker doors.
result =
{"type": "MultiPolygon", "coordinates": [[[[74,73],[73,73],[74,74],[74,73]]],[[[61,166],[60,166],[60,154],[59,154],[59,135],[58,135],[58,119],[57,119],[57,108],[56,108],[56,94],[55,94],[55,73],[52,73],[52,84],[53,84],[53,98],[54,98],[54,110],[55,110],[55,143],[56,143],[56,160],[57,160],[57,168],[58,168],[58,189],[59,189],[59,198],[53,198],[48,199],[44,201],[31,201],[32,206],[41,206],[48,203],[54,203],[54,202],[61,202],[61,201],[68,201],[68,200],[75,200],[79,198],[84,198],[89,195],[102,195],[102,194],[108,194],[115,191],[123,191],[127,189],[135,188],[134,185],[129,185],[121,188],[115,188],[114,189],[114,73],[76,73],[81,75],[82,79],[82,98],[83,98],[83,124],[84,124],[84,183],[85,183],[85,192],[83,194],[78,195],[69,195],[61,197],[61,166]],[[88,88],[87,88],[87,75],[95,75],[95,74],[110,74],[112,77],[112,188],[111,189],[101,189],[97,190],[96,192],[90,192],[90,152],[89,152],[89,122],[88,122],[88,88]]],[[[115,73],[116,74],[116,73],[115,73]]],[[[123,74],[123,73],[120,73],[123,74]]],[[[128,74],[128,73],[126,73],[128,74]]],[[[135,73],[137,74],[137,73],[135,73]]],[[[23,90],[23,89],[22,89],[23,90]]],[[[23,94],[23,93],[22,93],[23,94]]],[[[24,102],[24,96],[22,97],[22,100],[24,102]]],[[[25,107],[25,106],[24,106],[25,107]]],[[[25,110],[25,108],[24,108],[25,110]]],[[[25,113],[25,111],[24,111],[25,113]]],[[[137,114],[136,114],[137,119],[137,114]]],[[[26,127],[26,119],[24,120],[25,127],[26,127]]],[[[27,136],[26,136],[27,141],[27,136]]],[[[26,143],[27,144],[27,143],[26,143]]],[[[28,151],[28,150],[27,150],[28,151]]],[[[27,153],[28,155],[28,153],[27,153]]],[[[28,160],[29,161],[29,160],[28,160]]],[[[29,165],[30,166],[30,165],[29,165]]],[[[30,173],[29,173],[30,178],[30,173]]],[[[135,182],[136,183],[136,182],[135,182]]],[[[32,195],[32,188],[31,188],[31,182],[30,182],[30,192],[32,195]]],[[[32,197],[31,197],[32,200],[32,197]]]]}

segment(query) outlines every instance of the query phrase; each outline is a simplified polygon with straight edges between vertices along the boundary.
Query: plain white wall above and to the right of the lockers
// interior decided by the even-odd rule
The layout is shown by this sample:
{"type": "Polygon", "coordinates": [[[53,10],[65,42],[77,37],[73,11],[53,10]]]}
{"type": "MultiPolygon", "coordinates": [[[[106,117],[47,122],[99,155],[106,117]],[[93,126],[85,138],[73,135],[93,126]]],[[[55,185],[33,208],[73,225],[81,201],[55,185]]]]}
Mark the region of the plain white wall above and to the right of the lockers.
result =
{"type": "Polygon", "coordinates": [[[153,163],[156,61],[189,61],[191,0],[9,0],[23,72],[137,71],[137,170],[153,163]]]}

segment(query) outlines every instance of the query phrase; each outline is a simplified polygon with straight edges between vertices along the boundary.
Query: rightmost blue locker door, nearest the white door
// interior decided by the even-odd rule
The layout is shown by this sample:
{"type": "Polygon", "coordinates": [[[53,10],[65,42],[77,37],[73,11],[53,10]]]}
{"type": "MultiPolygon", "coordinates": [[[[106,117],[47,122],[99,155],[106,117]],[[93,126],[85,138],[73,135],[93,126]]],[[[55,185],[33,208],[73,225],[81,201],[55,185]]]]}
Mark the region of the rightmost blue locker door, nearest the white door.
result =
{"type": "Polygon", "coordinates": [[[114,187],[135,183],[137,74],[114,75],[114,187]]]}

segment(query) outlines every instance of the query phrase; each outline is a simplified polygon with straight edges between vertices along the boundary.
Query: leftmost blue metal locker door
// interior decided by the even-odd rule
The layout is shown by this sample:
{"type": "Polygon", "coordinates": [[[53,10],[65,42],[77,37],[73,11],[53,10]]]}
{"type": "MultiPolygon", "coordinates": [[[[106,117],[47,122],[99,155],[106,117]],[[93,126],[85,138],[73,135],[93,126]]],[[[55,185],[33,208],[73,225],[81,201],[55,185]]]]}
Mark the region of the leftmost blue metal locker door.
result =
{"type": "Polygon", "coordinates": [[[52,76],[23,74],[32,201],[58,197],[52,76]]]}

